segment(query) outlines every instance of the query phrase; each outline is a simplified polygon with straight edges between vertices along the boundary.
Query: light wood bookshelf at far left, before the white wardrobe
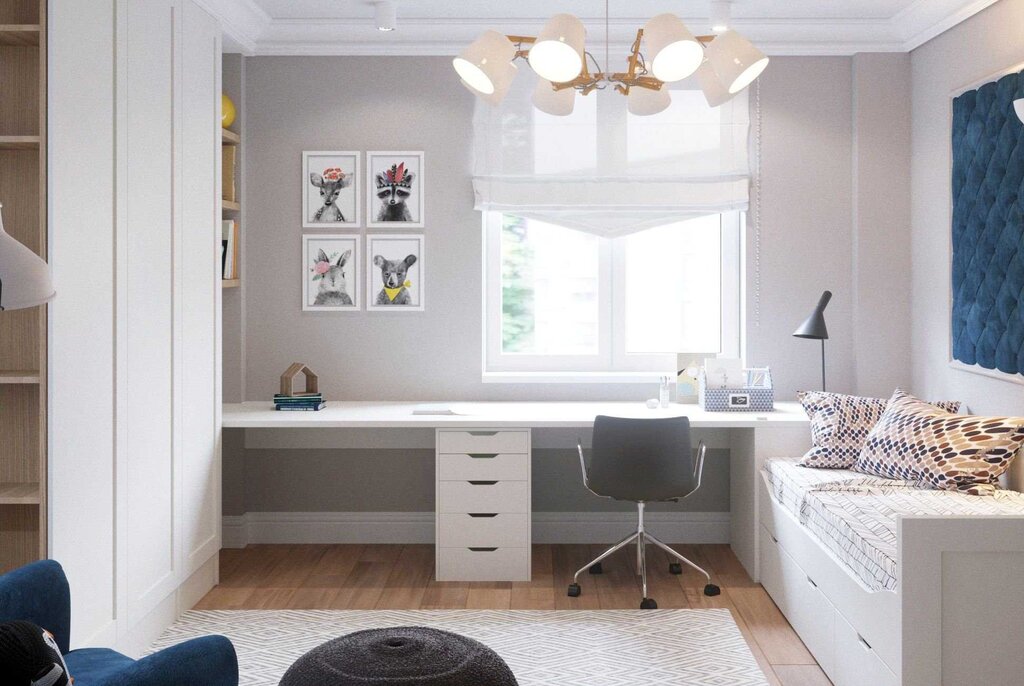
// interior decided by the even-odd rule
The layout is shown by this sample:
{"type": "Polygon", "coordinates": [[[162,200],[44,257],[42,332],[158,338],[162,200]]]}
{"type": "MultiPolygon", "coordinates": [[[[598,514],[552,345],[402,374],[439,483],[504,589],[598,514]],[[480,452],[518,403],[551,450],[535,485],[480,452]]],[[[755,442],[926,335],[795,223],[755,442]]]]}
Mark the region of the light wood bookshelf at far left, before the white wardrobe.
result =
{"type": "MultiPolygon", "coordinates": [[[[4,229],[46,257],[46,0],[0,3],[4,229]]],[[[46,556],[46,306],[0,312],[0,573],[46,556]]]]}

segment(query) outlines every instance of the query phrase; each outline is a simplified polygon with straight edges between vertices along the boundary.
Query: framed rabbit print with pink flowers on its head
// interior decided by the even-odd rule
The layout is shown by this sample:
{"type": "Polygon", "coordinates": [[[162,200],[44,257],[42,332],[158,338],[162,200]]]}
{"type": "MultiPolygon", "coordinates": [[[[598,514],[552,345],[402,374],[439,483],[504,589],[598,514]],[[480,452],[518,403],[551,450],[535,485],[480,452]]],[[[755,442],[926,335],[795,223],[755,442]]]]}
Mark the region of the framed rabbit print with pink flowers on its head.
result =
{"type": "Polygon", "coordinates": [[[359,235],[302,237],[302,309],[349,311],[361,307],[359,235]]]}

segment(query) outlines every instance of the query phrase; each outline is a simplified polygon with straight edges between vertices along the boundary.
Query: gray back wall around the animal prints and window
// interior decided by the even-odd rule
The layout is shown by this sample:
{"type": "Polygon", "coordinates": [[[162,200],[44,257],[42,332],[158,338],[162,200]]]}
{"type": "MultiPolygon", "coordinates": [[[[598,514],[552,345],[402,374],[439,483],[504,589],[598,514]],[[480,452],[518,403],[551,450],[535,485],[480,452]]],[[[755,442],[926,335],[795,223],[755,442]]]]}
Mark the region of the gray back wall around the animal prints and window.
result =
{"type": "MultiPolygon", "coordinates": [[[[860,116],[854,115],[855,102],[891,97],[890,88],[905,87],[907,72],[900,55],[872,56],[869,63],[777,57],[761,80],[763,230],[760,249],[753,231],[748,237],[746,358],[772,367],[779,398],[820,383],[816,342],[791,334],[824,289],[835,293],[827,312],[829,388],[888,394],[908,376],[906,332],[892,326],[892,309],[880,306],[887,299],[883,293],[908,292],[908,269],[886,266],[866,280],[854,274],[855,264],[876,259],[909,263],[909,243],[898,238],[906,232],[906,197],[874,198],[889,180],[905,182],[900,165],[908,166],[908,151],[887,146],[909,136],[909,119],[901,105],[862,106],[860,116]],[[876,83],[873,76],[865,77],[870,74],[886,78],[876,83]],[[895,119],[883,116],[893,113],[895,119]],[[858,183],[864,186],[859,197],[858,183]],[[854,336],[855,317],[858,328],[877,335],[854,336]]],[[[246,357],[229,359],[233,353],[225,349],[224,366],[242,365],[247,399],[267,399],[281,372],[297,359],[321,375],[329,398],[338,399],[640,400],[654,394],[653,388],[636,385],[481,383],[481,227],[470,183],[474,102],[454,77],[450,59],[254,57],[245,60],[244,73],[246,357]],[[426,152],[427,311],[301,310],[301,153],[332,148],[426,152]]],[[[432,503],[432,478],[422,473],[430,467],[426,453],[410,451],[400,458],[362,448],[312,448],[299,455],[284,444],[253,447],[251,441],[247,449],[241,435],[232,435],[241,432],[225,433],[225,514],[400,511],[432,503]],[[380,481],[371,471],[381,473],[381,465],[388,472],[398,469],[404,464],[400,459],[416,470],[408,487],[375,488],[380,481]],[[289,469],[296,464],[302,469],[289,469]],[[360,487],[329,491],[321,485],[345,479],[360,487]]],[[[539,454],[535,509],[603,507],[579,486],[574,464],[564,448],[539,454]]],[[[706,494],[689,507],[724,511],[727,465],[711,464],[706,494]]]]}

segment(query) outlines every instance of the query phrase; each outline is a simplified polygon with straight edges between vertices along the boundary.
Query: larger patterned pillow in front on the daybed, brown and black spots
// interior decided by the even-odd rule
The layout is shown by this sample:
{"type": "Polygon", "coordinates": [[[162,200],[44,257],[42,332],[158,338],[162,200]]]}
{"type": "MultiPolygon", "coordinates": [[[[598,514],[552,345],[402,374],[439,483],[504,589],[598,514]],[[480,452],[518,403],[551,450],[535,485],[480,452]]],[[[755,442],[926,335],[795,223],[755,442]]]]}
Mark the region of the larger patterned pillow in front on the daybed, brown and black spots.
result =
{"type": "Polygon", "coordinates": [[[1024,417],[953,415],[897,389],[853,469],[986,496],[1022,444],[1024,417]]]}

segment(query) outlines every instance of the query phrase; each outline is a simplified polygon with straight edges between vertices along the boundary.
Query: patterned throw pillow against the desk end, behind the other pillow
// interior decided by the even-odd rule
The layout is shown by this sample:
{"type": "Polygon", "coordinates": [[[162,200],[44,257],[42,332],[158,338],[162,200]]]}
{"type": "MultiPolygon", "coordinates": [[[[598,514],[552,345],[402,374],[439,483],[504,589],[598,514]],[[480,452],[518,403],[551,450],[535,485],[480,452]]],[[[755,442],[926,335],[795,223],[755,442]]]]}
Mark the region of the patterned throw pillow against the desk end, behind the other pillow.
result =
{"type": "MultiPolygon", "coordinates": [[[[849,469],[857,461],[867,434],[882,419],[889,400],[824,391],[798,394],[811,418],[811,449],[800,464],[819,469],[849,469]]],[[[958,401],[936,402],[949,412],[959,410],[958,401]]]]}

